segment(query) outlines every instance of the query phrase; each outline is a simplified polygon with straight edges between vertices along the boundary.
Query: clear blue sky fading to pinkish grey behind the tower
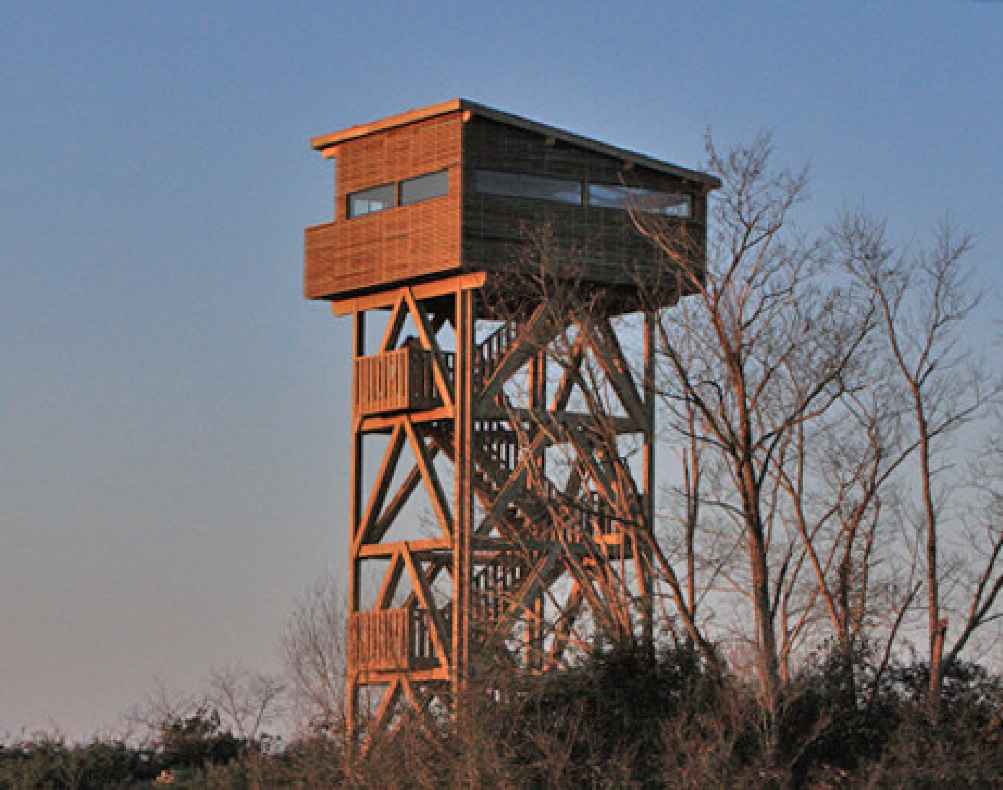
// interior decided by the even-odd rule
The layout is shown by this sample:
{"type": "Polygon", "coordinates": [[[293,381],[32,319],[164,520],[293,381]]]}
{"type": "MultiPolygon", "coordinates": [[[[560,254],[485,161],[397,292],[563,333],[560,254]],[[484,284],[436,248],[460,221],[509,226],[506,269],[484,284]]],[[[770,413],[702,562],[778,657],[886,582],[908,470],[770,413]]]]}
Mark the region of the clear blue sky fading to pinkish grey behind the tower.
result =
{"type": "Polygon", "coordinates": [[[0,734],[276,669],[343,567],[312,136],[457,96],[688,166],[708,126],[771,129],[807,222],[864,206],[914,242],[950,215],[993,307],[1001,75],[999,3],[3,2],[0,734]]]}

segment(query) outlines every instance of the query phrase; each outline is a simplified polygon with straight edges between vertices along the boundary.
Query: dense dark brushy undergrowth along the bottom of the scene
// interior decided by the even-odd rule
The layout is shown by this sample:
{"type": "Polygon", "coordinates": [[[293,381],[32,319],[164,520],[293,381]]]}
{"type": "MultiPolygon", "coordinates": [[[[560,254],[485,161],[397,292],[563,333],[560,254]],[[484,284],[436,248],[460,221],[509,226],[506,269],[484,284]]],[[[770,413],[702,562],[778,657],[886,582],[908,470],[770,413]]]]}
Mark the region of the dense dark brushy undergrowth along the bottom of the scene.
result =
{"type": "Polygon", "coordinates": [[[753,689],[689,648],[607,647],[471,695],[456,723],[414,719],[361,756],[320,733],[241,738],[203,708],[141,748],[6,744],[0,787],[1003,787],[1003,678],[954,665],[931,711],[927,676],[901,666],[872,686],[869,656],[822,655],[770,721],[753,689]]]}

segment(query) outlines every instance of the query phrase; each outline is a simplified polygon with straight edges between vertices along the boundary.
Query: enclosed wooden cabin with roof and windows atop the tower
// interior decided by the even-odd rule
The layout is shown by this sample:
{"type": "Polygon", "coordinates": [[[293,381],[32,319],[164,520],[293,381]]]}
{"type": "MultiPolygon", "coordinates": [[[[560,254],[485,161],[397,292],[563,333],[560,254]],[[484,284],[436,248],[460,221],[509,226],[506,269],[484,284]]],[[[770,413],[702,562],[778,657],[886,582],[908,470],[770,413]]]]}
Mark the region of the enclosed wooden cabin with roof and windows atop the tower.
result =
{"type": "MultiPolygon", "coordinates": [[[[546,229],[579,282],[629,293],[675,282],[637,225],[682,230],[702,260],[703,172],[454,99],[313,140],[334,158],[334,222],[306,231],[305,295],[341,301],[462,273],[504,280],[546,229]]],[[[679,294],[662,289],[671,304],[679,294]]],[[[625,311],[626,312],[626,311],[625,311]]]]}

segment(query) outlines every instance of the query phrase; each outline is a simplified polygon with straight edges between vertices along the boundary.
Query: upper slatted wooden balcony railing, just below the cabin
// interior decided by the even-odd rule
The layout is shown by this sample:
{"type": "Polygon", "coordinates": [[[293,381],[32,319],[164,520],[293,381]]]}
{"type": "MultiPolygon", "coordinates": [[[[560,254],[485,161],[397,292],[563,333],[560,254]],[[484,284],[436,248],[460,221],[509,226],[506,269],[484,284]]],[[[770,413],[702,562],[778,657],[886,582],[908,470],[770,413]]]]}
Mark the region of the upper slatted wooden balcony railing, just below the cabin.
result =
{"type": "MultiPolygon", "coordinates": [[[[451,380],[454,355],[444,353],[442,357],[446,363],[446,376],[451,380]]],[[[367,416],[433,409],[441,405],[430,351],[401,348],[354,360],[352,410],[355,414],[367,416]]]]}

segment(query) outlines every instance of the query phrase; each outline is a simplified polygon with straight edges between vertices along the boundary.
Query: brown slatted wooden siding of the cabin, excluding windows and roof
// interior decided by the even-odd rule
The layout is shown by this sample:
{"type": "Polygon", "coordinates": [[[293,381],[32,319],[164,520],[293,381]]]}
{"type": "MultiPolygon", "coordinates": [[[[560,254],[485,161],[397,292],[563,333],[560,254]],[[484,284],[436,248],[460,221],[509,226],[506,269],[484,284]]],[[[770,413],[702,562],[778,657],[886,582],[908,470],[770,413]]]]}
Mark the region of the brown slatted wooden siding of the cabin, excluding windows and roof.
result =
{"type": "Polygon", "coordinates": [[[337,166],[335,219],[306,231],[308,299],[346,299],[459,272],[504,275],[539,233],[548,236],[555,263],[570,264],[578,279],[627,289],[656,274],[672,281],[672,266],[641,237],[629,212],[478,194],[477,168],[685,191],[692,217],[646,216],[646,221],[681,231],[694,249],[705,246],[708,182],[475,113],[464,119],[463,112],[446,112],[349,136],[327,153],[331,150],[337,166]],[[347,219],[350,192],[442,168],[449,171],[447,195],[347,219]]]}

